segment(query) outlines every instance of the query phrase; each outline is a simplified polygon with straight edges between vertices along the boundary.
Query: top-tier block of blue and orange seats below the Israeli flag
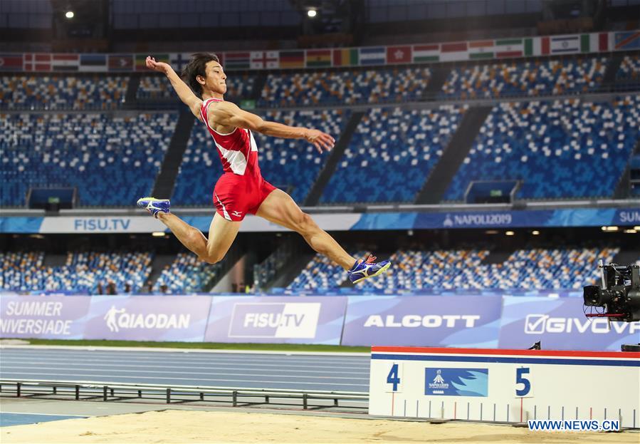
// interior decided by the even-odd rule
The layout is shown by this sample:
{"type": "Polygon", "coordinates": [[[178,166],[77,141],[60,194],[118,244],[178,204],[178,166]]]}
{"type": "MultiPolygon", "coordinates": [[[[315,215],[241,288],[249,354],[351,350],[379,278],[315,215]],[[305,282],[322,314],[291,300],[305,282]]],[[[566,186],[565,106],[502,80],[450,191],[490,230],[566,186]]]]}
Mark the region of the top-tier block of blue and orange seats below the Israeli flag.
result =
{"type": "Polygon", "coordinates": [[[585,93],[604,79],[607,58],[509,61],[453,68],[439,98],[499,98],[585,93]]]}

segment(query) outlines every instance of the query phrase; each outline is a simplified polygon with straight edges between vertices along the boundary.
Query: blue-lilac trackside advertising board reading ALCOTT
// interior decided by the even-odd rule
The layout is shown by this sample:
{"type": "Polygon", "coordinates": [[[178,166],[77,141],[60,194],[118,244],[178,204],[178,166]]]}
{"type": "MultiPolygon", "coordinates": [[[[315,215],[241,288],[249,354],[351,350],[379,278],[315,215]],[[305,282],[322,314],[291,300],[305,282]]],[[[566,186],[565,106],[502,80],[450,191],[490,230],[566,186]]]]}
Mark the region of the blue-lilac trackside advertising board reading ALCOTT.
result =
{"type": "Polygon", "coordinates": [[[342,345],[498,346],[501,296],[349,296],[342,345]]]}

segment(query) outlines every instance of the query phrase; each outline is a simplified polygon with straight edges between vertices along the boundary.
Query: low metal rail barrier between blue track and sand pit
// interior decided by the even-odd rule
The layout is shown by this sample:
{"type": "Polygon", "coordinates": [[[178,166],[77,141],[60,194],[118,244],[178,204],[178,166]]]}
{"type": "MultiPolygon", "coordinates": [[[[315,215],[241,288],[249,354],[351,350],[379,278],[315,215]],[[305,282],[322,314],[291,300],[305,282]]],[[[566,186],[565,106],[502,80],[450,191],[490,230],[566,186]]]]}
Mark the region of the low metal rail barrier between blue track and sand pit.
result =
{"type": "Polygon", "coordinates": [[[278,388],[211,387],[211,386],[174,386],[164,384],[117,383],[104,381],[51,381],[34,379],[0,379],[0,393],[15,393],[23,396],[72,396],[75,400],[102,398],[103,401],[121,401],[131,398],[164,398],[167,404],[188,401],[230,402],[234,407],[238,403],[300,405],[309,407],[338,407],[344,401],[351,401],[350,408],[367,409],[369,393],[353,391],[301,391],[278,388]],[[146,396],[145,396],[146,395],[146,396]],[[209,397],[209,400],[206,399],[209,397]],[[222,399],[221,399],[222,398],[222,399]],[[230,398],[225,400],[224,398],[230,398]],[[256,401],[263,398],[264,401],[256,401]],[[253,401],[250,401],[253,400],[253,401]],[[319,403],[318,401],[324,401],[319,403]],[[327,405],[326,401],[333,401],[327,405]]]}

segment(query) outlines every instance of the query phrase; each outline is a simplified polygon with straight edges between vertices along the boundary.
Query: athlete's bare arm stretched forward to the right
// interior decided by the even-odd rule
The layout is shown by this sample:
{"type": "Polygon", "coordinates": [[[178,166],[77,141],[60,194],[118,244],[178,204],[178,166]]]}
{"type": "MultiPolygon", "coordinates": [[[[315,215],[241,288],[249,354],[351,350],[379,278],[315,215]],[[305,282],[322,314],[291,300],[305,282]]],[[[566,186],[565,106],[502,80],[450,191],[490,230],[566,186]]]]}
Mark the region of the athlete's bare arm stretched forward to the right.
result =
{"type": "Polygon", "coordinates": [[[320,130],[267,122],[259,115],[243,111],[231,102],[221,102],[215,107],[210,107],[207,118],[211,126],[215,123],[234,128],[246,128],[276,138],[306,139],[309,143],[313,143],[320,153],[322,150],[330,151],[335,145],[335,139],[320,130]]]}

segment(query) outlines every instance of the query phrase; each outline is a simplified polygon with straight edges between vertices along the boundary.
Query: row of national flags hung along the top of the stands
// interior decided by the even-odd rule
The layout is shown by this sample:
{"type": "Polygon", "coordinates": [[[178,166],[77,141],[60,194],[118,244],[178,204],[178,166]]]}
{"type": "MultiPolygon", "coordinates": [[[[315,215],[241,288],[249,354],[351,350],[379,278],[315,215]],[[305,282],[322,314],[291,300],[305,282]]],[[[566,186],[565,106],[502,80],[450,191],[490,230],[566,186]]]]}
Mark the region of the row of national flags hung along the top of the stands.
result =
{"type": "MultiPolygon", "coordinates": [[[[640,49],[640,31],[575,34],[426,45],[219,53],[226,70],[380,66],[640,49]]],[[[176,71],[190,53],[153,54],[176,71]]],[[[0,54],[0,71],[147,71],[147,54],[0,54]]]]}

